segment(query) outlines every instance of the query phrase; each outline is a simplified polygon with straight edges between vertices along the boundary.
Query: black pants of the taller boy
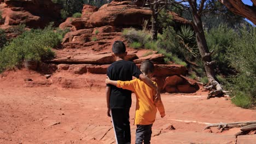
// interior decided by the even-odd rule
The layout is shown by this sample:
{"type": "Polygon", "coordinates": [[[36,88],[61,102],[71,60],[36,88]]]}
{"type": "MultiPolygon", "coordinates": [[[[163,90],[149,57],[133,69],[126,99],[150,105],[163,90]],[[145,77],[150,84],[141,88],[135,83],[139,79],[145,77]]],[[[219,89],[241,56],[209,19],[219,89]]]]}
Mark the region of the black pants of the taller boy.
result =
{"type": "Polygon", "coordinates": [[[113,125],[118,144],[131,143],[129,111],[130,107],[127,109],[111,109],[113,125]]]}

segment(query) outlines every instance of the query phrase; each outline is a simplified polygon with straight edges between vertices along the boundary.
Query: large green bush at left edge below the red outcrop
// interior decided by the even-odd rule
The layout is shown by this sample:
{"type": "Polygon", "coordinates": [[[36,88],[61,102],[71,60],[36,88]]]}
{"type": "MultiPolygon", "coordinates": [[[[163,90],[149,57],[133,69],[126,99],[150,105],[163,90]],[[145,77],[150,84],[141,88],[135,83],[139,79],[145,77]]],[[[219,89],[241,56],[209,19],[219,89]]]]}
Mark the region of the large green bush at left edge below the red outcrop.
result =
{"type": "Polygon", "coordinates": [[[21,65],[25,59],[45,61],[53,58],[51,48],[61,43],[62,35],[54,32],[51,25],[22,33],[0,52],[0,71],[21,65]]]}

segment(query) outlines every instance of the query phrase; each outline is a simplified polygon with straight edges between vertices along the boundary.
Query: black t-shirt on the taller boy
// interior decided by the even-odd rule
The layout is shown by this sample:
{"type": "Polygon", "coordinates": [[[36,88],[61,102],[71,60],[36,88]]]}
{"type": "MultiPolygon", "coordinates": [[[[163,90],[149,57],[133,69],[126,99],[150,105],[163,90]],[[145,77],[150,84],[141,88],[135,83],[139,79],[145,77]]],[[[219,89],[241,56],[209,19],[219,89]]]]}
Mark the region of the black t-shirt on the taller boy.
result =
{"type": "MultiPolygon", "coordinates": [[[[132,76],[139,77],[142,72],[137,65],[130,61],[117,61],[112,63],[107,70],[107,76],[110,80],[130,81],[132,76]]],[[[113,85],[107,85],[110,91],[110,109],[120,109],[131,107],[131,91],[118,88],[113,85]]]]}

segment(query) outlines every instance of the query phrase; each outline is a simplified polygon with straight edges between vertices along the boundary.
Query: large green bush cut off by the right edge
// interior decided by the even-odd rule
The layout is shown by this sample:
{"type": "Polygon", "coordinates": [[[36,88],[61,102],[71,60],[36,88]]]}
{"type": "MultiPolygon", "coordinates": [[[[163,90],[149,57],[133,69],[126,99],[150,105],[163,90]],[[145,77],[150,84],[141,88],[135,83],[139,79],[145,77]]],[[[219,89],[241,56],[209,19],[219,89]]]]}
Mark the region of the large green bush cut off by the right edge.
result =
{"type": "Polygon", "coordinates": [[[238,97],[232,101],[236,104],[237,101],[249,100],[251,104],[243,105],[247,108],[256,105],[256,28],[242,28],[239,32],[239,37],[234,40],[234,46],[227,50],[226,58],[230,66],[237,71],[237,75],[231,77],[231,89],[238,97]]]}

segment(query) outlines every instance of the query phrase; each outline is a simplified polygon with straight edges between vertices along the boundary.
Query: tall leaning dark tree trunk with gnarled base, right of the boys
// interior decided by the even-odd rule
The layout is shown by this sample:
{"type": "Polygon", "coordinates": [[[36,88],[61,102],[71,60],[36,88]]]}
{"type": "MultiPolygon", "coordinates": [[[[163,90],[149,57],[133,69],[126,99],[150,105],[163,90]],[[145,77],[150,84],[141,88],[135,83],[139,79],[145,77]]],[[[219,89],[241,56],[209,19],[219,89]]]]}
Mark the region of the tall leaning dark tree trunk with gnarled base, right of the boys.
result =
{"type": "Polygon", "coordinates": [[[202,57],[203,66],[205,67],[208,81],[211,83],[212,88],[216,89],[216,91],[211,91],[208,94],[208,98],[210,98],[219,94],[223,94],[223,89],[220,86],[214,73],[214,62],[212,61],[211,53],[209,52],[206,43],[205,33],[203,32],[202,27],[201,16],[197,13],[198,11],[196,0],[189,0],[189,5],[193,13],[193,21],[191,22],[191,24],[193,25],[196,33],[196,41],[202,57]]]}

